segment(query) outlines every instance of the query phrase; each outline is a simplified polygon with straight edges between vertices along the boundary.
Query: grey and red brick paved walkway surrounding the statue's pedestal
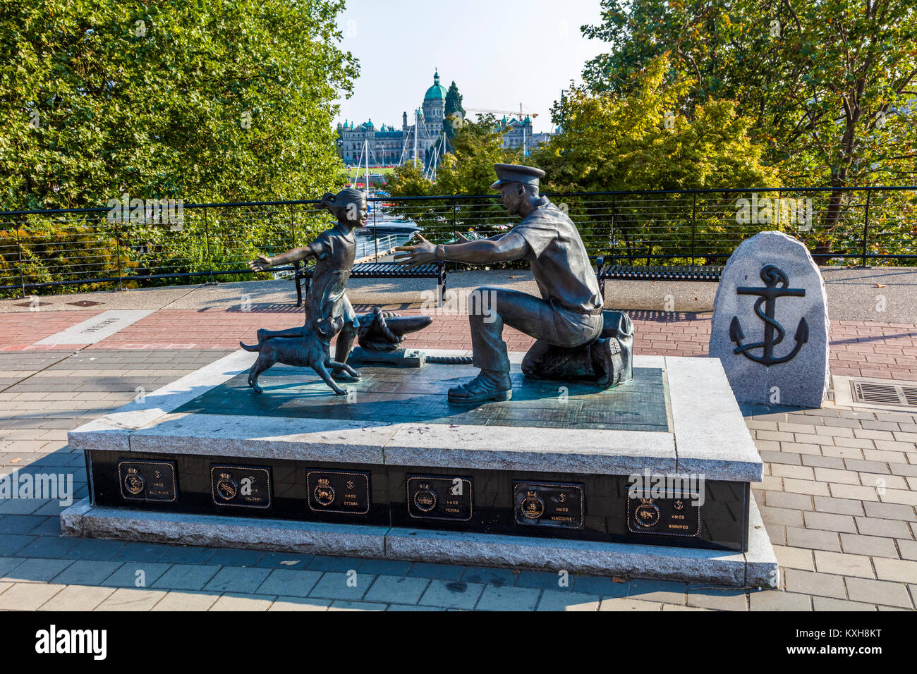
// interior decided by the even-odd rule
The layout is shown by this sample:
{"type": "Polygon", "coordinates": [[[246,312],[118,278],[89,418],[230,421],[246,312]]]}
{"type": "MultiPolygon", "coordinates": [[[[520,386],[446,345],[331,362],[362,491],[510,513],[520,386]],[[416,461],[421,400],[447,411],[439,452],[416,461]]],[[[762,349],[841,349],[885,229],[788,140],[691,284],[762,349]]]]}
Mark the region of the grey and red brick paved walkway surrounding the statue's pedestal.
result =
{"type": "MultiPolygon", "coordinates": [[[[92,312],[0,318],[0,464],[72,475],[83,455],[66,431],[196,370],[258,326],[296,310],[161,310],[92,347],[30,345],[92,312]],[[164,347],[171,347],[166,349],[164,347]]],[[[636,348],[706,352],[705,316],[634,312],[636,348]]],[[[834,374],[917,380],[917,326],[833,323],[834,374]]],[[[413,346],[470,348],[466,318],[437,317],[413,346]]],[[[510,348],[530,343],[509,334],[510,348]]],[[[779,591],[679,582],[155,544],[60,536],[56,501],[0,501],[0,609],[893,610],[917,601],[917,414],[827,404],[744,406],[765,460],[753,485],[781,567],[779,591]],[[355,574],[355,575],[354,575],[355,574]],[[356,579],[353,586],[351,580],[356,579]]]]}

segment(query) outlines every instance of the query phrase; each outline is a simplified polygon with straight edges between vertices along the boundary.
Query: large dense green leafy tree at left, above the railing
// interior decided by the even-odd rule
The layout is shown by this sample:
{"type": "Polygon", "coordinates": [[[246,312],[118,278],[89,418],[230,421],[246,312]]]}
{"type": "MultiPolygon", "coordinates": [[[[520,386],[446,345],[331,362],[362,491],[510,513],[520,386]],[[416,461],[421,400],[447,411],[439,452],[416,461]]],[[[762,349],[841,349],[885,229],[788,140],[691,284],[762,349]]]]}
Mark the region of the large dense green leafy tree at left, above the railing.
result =
{"type": "Polygon", "coordinates": [[[302,198],[341,184],[357,61],[339,0],[34,0],[0,9],[6,208],[302,198]]]}

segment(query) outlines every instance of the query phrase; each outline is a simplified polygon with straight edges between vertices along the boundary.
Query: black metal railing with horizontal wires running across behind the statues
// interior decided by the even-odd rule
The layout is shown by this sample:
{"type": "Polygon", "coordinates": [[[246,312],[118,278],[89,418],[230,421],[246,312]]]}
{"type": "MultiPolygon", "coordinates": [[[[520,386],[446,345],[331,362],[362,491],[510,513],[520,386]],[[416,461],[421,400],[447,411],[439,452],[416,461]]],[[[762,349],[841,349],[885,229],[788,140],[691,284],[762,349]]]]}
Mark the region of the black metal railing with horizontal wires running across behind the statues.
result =
{"type": "MultiPolygon", "coordinates": [[[[800,238],[820,264],[917,264],[917,186],[548,194],[608,265],[724,264],[757,232],[800,238]]],[[[314,200],[0,212],[0,293],[85,291],[249,277],[248,260],[301,246],[332,225],[314,200]],[[125,217],[127,215],[127,217],[125,217]],[[172,214],[174,215],[174,214],[172,214]]],[[[372,197],[362,234],[413,222],[425,238],[514,226],[499,195],[372,197]]],[[[373,236],[373,234],[375,236],[373,236]]],[[[383,247],[384,248],[384,247],[383,247]]],[[[364,250],[375,250],[374,244],[364,250]]]]}

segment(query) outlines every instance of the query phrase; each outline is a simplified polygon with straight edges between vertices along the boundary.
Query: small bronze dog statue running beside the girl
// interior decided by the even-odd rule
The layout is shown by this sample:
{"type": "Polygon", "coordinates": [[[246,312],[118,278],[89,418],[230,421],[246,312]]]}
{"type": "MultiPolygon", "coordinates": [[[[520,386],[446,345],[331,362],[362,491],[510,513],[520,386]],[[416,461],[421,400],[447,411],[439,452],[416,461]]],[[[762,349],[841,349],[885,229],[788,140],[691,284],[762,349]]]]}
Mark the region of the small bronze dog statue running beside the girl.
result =
{"type": "Polygon", "coordinates": [[[302,337],[272,337],[259,339],[257,345],[251,346],[239,342],[238,345],[246,351],[258,351],[259,356],[249,370],[249,386],[260,393],[263,389],[258,385],[258,376],[275,363],[293,365],[299,368],[312,368],[331,390],[337,395],[346,395],[347,392],[331,379],[328,367],[339,368],[346,371],[351,377],[359,379],[359,372],[347,363],[340,363],[331,358],[329,347],[331,339],[344,326],[343,316],[325,319],[313,323],[313,329],[304,330],[302,337]]]}

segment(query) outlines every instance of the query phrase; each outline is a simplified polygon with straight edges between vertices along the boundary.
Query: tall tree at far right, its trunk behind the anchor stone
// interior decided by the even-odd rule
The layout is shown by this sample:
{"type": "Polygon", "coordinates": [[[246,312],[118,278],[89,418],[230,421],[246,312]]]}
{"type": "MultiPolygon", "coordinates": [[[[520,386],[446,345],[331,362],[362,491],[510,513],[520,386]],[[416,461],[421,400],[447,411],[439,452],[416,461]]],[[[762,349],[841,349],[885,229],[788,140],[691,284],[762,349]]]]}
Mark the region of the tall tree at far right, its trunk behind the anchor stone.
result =
{"type": "MultiPolygon", "coordinates": [[[[583,72],[595,91],[635,87],[642,64],[669,51],[669,80],[694,80],[682,110],[735,99],[784,184],[917,180],[913,3],[602,0],[602,24],[583,33],[611,45],[583,72]]],[[[832,249],[846,210],[845,193],[830,193],[819,252],[832,249]]]]}

